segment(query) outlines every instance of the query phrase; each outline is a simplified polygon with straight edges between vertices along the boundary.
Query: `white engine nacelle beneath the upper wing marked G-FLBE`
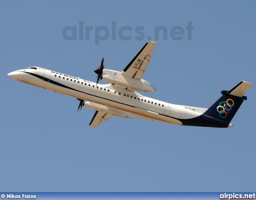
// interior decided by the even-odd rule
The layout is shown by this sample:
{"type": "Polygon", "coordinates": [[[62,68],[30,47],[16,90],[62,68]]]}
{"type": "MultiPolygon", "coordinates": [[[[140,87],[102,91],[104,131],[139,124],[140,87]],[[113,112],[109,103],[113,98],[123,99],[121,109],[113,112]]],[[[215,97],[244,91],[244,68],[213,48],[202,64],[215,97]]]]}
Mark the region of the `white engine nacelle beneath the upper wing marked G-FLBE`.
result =
{"type": "Polygon", "coordinates": [[[103,70],[101,80],[132,90],[156,92],[156,90],[146,80],[138,80],[136,78],[123,76],[121,72],[114,70],[103,70]]]}

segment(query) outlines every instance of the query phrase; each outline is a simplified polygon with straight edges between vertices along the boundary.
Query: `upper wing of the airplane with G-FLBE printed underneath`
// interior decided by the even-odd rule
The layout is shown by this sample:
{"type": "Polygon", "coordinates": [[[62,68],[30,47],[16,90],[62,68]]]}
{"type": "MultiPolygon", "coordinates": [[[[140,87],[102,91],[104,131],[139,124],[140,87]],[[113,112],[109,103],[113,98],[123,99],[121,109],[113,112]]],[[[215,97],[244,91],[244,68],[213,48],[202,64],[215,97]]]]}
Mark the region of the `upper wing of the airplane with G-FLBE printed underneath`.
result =
{"type": "Polygon", "coordinates": [[[124,68],[122,75],[141,80],[142,76],[146,74],[145,71],[148,63],[150,63],[151,54],[156,44],[156,42],[147,42],[126,68],[124,68]]]}

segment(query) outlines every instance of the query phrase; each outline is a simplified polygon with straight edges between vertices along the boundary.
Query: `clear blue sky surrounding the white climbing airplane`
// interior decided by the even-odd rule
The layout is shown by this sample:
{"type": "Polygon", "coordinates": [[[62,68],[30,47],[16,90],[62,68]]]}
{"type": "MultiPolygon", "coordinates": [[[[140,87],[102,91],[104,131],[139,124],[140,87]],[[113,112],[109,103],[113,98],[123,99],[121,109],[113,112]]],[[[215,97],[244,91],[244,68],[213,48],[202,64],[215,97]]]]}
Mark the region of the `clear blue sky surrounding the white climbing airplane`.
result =
{"type": "MultiPolygon", "coordinates": [[[[256,83],[255,8],[254,1],[1,1],[0,189],[255,190],[255,85],[233,118],[233,128],[113,117],[94,129],[88,126],[94,111],[77,112],[76,98],[7,76],[39,66],[96,82],[93,70],[103,56],[106,69],[122,71],[150,36],[158,44],[144,79],[156,93],[142,94],[208,108],[221,90],[230,90],[241,80],[256,83]],[[83,40],[79,40],[80,21],[83,40]],[[194,27],[191,40],[188,22],[194,27]],[[76,26],[76,40],[64,39],[66,26],[76,26]],[[86,26],[93,26],[89,40],[86,26]],[[96,45],[100,26],[110,35],[96,45]],[[130,40],[118,35],[124,26],[132,28],[123,32],[130,40]],[[168,30],[167,40],[161,34],[156,40],[158,26],[168,30]],[[181,40],[170,35],[175,26],[184,30],[181,40]],[[135,38],[136,27],[144,28],[141,40],[135,38]]],[[[104,33],[100,32],[102,37],[104,33]]]]}

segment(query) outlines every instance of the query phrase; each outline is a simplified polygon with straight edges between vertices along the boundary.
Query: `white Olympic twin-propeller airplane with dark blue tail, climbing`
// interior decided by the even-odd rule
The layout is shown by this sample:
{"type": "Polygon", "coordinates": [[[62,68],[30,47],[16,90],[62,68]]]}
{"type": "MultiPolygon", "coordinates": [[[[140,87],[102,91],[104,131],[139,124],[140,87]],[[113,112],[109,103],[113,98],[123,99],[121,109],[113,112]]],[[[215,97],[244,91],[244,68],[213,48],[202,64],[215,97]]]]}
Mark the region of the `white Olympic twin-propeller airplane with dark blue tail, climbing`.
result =
{"type": "Polygon", "coordinates": [[[182,106],[163,102],[139,94],[155,92],[143,80],[156,42],[148,41],[122,72],[104,69],[104,57],[94,70],[97,82],[69,76],[41,67],[28,67],[10,72],[8,76],[19,82],[66,94],[77,98],[82,107],[96,110],[89,126],[97,128],[111,116],[159,120],[176,125],[231,128],[232,118],[247,97],[251,83],[241,81],[231,90],[222,90],[222,96],[210,108],[182,106]],[[109,84],[99,84],[99,80],[109,84]]]}

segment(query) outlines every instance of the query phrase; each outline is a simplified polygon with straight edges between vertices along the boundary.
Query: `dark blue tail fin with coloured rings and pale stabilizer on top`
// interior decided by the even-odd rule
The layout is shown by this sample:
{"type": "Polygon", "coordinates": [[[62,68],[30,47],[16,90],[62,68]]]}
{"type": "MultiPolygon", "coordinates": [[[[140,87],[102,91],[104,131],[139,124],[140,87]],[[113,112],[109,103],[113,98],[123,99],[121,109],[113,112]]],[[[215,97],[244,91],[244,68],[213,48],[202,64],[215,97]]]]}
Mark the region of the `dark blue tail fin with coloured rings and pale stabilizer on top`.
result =
{"type": "Polygon", "coordinates": [[[223,95],[204,112],[204,115],[230,123],[242,102],[247,100],[243,95],[250,86],[252,86],[251,83],[241,81],[230,91],[222,90],[223,95]]]}

